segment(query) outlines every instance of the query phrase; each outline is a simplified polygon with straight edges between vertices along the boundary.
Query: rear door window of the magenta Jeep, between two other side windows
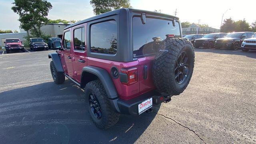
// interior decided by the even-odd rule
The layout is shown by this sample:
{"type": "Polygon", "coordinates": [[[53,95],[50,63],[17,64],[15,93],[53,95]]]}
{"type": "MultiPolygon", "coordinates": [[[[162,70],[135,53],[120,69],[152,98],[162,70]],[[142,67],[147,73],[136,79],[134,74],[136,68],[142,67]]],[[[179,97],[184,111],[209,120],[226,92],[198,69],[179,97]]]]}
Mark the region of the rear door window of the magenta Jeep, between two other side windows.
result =
{"type": "Polygon", "coordinates": [[[85,29],[77,28],[74,30],[74,50],[85,51],[85,29]]]}

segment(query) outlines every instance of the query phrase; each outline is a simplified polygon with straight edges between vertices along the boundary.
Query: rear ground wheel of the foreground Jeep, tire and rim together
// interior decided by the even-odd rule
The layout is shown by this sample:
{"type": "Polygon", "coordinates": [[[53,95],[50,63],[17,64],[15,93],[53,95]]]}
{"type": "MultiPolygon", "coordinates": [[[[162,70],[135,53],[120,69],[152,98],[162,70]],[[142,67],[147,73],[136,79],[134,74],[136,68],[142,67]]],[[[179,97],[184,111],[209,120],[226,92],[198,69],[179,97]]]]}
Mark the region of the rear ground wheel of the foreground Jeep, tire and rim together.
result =
{"type": "Polygon", "coordinates": [[[100,80],[88,82],[84,89],[87,109],[95,125],[108,129],[119,120],[120,114],[112,110],[106,91],[100,80]]]}

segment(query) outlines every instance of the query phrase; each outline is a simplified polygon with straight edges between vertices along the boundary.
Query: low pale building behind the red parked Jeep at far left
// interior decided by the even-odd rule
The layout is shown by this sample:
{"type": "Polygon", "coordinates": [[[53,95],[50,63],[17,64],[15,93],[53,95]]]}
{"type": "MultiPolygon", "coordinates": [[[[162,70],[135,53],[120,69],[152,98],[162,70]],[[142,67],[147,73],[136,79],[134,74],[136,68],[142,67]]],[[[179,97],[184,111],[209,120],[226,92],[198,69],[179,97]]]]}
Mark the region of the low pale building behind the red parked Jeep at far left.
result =
{"type": "Polygon", "coordinates": [[[19,33],[8,33],[8,34],[0,34],[0,46],[4,46],[4,42],[6,38],[19,38],[20,41],[25,41],[24,38],[27,36],[26,32],[19,32],[19,33]]]}

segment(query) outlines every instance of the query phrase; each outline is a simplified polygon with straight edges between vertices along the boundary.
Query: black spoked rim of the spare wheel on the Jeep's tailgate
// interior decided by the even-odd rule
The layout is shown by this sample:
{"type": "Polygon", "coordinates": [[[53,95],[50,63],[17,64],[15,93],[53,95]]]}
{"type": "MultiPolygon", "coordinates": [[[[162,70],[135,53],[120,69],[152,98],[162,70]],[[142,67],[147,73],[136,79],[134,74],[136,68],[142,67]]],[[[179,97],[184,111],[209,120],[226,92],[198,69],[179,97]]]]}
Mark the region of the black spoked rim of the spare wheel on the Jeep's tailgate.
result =
{"type": "Polygon", "coordinates": [[[183,51],[178,57],[176,67],[174,69],[174,78],[176,83],[181,84],[188,77],[189,63],[189,57],[186,54],[186,51],[183,51]]]}

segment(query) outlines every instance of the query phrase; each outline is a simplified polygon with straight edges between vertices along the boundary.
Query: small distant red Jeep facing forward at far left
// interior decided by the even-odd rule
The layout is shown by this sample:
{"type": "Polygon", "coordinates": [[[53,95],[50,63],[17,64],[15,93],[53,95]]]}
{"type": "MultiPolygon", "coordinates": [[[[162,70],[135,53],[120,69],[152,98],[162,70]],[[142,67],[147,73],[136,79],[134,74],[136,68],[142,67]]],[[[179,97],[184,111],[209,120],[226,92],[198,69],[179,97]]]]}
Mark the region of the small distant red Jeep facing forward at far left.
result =
{"type": "Polygon", "coordinates": [[[21,50],[22,52],[25,52],[24,45],[21,43],[22,42],[18,38],[6,38],[4,42],[6,53],[9,54],[12,50],[21,50]]]}

